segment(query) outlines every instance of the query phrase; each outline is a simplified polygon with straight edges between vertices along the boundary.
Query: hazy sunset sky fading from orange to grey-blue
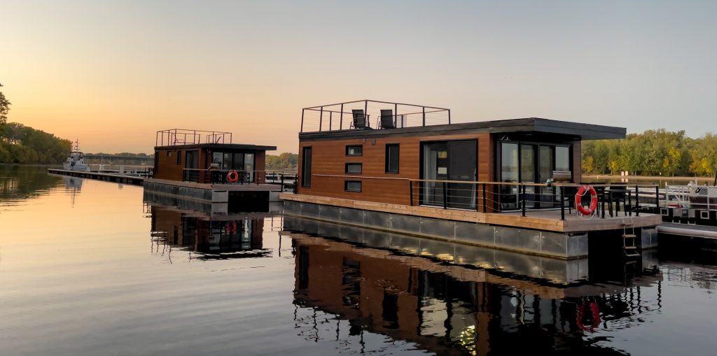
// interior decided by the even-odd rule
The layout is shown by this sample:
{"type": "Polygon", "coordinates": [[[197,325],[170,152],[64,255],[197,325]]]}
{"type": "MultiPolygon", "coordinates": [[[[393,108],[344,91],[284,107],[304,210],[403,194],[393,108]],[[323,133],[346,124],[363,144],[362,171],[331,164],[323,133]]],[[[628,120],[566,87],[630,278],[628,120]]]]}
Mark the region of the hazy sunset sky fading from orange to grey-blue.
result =
{"type": "Polygon", "coordinates": [[[301,108],[717,132],[717,1],[8,1],[9,121],[85,152],[167,128],[298,147],[301,108]]]}

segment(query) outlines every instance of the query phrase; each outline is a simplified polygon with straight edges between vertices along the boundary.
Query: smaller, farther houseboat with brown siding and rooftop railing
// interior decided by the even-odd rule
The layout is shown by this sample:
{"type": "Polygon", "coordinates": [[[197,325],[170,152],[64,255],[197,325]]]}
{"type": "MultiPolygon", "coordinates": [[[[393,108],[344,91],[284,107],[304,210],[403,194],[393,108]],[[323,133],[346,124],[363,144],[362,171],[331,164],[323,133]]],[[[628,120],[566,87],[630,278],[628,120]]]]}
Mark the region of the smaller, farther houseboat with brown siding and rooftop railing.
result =
{"type": "Polygon", "coordinates": [[[153,178],[144,188],[212,204],[213,211],[262,211],[282,188],[266,182],[268,150],[276,147],[232,143],[228,132],[158,131],[153,178]]]}

